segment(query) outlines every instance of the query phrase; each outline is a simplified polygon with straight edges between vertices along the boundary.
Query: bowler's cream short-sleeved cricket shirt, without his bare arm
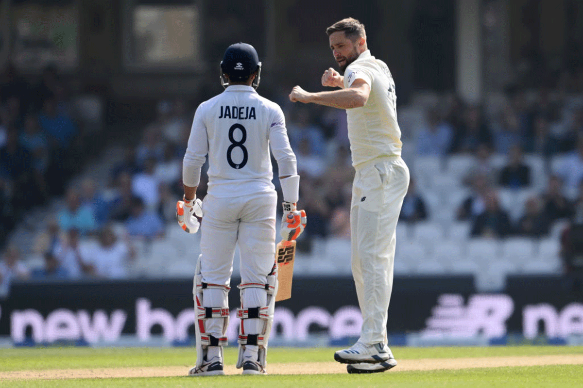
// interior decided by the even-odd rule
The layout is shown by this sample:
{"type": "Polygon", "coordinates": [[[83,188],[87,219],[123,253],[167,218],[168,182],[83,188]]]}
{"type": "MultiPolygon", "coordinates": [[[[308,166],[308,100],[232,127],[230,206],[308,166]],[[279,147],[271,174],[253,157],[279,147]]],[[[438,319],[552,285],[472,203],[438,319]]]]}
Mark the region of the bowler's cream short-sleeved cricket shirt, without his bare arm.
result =
{"type": "Polygon", "coordinates": [[[384,156],[401,155],[401,129],[397,123],[395,81],[380,59],[364,51],[346,67],[344,87],[354,80],[370,86],[366,105],[346,109],[352,165],[358,166],[384,156]]]}

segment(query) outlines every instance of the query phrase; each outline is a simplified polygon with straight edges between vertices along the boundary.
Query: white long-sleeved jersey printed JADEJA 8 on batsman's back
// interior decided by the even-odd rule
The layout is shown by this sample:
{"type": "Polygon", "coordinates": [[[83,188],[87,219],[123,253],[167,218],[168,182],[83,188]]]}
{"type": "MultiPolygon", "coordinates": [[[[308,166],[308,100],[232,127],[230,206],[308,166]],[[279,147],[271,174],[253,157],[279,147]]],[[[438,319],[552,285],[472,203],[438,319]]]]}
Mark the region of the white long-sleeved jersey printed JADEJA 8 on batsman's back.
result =
{"type": "Polygon", "coordinates": [[[215,197],[273,191],[270,144],[279,175],[296,175],[282,109],[251,86],[233,85],[196,109],[183,163],[200,169],[208,155],[215,197]]]}

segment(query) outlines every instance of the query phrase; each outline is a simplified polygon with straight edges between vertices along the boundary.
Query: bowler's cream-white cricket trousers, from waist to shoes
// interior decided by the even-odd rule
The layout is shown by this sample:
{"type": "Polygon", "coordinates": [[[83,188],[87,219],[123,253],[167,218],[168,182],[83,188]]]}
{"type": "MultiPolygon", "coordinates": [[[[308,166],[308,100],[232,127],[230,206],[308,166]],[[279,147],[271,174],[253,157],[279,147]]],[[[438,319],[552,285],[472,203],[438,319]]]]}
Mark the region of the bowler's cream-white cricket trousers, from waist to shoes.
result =
{"type": "Polygon", "coordinates": [[[409,186],[401,156],[356,167],[350,207],[352,275],[363,326],[360,341],[387,343],[387,315],[393,286],[395,230],[409,186]]]}

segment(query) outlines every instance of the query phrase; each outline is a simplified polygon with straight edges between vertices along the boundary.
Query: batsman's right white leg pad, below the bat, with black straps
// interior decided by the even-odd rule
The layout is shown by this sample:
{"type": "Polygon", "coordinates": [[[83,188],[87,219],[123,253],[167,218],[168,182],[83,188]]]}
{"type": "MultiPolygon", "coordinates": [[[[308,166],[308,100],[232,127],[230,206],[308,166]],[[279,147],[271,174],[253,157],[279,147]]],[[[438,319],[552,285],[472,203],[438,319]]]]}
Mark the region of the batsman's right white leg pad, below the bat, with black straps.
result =
{"type": "Polygon", "coordinates": [[[267,365],[267,346],[273,325],[275,295],[278,290],[277,266],[267,276],[265,284],[241,283],[241,308],[237,309],[237,318],[241,319],[239,327],[239,354],[237,368],[243,367],[245,350],[258,347],[258,361],[263,368],[267,365]]]}

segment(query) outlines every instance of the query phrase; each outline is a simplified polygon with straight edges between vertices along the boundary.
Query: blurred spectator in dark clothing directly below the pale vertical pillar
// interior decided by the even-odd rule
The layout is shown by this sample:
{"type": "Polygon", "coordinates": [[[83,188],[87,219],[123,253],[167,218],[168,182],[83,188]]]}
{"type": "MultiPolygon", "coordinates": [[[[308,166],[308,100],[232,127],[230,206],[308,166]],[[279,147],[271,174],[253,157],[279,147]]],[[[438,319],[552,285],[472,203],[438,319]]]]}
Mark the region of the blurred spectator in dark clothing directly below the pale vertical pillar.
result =
{"type": "Polygon", "coordinates": [[[454,133],[452,152],[476,152],[480,144],[490,146],[492,137],[479,106],[470,106],[465,111],[461,127],[454,133]]]}

